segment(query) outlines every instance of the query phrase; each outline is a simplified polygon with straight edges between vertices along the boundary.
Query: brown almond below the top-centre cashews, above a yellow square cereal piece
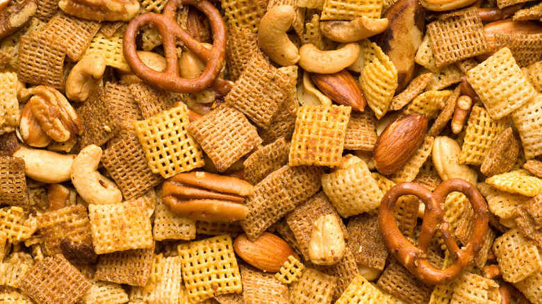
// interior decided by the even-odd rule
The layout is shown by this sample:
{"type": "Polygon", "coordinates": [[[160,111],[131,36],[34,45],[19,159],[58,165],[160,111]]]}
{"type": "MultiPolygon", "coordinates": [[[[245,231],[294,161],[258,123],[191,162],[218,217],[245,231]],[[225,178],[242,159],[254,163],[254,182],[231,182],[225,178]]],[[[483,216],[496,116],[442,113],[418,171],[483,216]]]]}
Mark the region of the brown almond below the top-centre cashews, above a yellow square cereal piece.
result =
{"type": "Polygon", "coordinates": [[[350,105],[352,110],[363,111],[367,101],[350,73],[343,69],[334,74],[311,73],[315,85],[331,100],[350,105]]]}

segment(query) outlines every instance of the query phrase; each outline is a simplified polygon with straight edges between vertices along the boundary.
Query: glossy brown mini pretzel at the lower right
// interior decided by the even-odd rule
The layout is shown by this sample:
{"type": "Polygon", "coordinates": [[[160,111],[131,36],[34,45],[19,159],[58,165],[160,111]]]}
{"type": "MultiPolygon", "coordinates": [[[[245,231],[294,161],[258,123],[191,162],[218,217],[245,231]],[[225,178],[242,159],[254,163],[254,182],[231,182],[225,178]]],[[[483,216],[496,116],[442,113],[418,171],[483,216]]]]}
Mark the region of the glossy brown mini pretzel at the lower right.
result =
{"type": "Polygon", "coordinates": [[[401,183],[392,187],[382,199],[379,223],[384,243],[414,276],[427,284],[447,284],[457,278],[461,271],[473,262],[475,255],[482,248],[488,230],[487,205],[482,194],[466,180],[457,178],[446,180],[438,185],[433,193],[418,183],[401,183]],[[463,250],[452,238],[445,212],[441,208],[446,196],[452,192],[465,194],[475,214],[473,235],[463,250]],[[409,194],[418,196],[422,203],[425,203],[425,215],[418,247],[413,246],[404,238],[393,217],[393,208],[397,199],[409,194]],[[443,270],[435,269],[426,259],[427,248],[436,230],[441,231],[453,262],[450,267],[443,270]]]}

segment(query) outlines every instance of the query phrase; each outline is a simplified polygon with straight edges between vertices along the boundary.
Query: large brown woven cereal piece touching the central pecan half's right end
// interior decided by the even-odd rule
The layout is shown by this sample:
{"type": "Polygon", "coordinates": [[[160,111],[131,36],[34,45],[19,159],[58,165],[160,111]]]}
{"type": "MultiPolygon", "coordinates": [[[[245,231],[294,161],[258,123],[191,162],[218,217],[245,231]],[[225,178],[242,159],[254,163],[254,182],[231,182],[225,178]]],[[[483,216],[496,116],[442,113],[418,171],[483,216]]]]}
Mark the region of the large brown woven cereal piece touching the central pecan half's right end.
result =
{"type": "Polygon", "coordinates": [[[241,227],[254,241],[273,223],[318,192],[321,186],[318,167],[286,165],[274,171],[254,186],[254,194],[245,199],[249,214],[240,221],[241,227]]]}

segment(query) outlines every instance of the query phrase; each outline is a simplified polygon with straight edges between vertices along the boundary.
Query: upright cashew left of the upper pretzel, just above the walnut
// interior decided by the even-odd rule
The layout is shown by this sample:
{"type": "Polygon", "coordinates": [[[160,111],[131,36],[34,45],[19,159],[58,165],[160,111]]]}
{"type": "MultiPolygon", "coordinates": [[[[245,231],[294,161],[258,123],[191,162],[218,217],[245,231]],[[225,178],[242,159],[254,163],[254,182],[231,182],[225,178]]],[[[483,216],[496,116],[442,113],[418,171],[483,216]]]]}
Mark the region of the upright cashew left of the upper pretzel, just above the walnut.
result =
{"type": "Polygon", "coordinates": [[[66,79],[66,96],[71,101],[83,102],[101,83],[106,71],[106,59],[91,53],[79,60],[66,79]]]}

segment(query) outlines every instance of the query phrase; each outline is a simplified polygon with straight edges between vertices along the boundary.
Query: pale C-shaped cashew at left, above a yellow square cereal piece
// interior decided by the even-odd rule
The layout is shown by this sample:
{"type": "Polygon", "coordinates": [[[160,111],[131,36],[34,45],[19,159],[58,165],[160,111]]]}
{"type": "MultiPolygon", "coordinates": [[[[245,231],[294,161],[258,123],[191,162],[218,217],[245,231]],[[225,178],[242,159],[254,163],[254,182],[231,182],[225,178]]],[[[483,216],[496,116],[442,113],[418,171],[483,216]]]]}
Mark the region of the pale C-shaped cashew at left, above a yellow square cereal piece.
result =
{"type": "Polygon", "coordinates": [[[77,193],[89,204],[120,203],[120,189],[97,171],[101,160],[101,148],[95,144],[79,152],[72,165],[72,183],[77,193]]]}

